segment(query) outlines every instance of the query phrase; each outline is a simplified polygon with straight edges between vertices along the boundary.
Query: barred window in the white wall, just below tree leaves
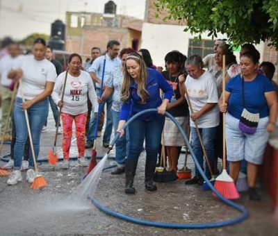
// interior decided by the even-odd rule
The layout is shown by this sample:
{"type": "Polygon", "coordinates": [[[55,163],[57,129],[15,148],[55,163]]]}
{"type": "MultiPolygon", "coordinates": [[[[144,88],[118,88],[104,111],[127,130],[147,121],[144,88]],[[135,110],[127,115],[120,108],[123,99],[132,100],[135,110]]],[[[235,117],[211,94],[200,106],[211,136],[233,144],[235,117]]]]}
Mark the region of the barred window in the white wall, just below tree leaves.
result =
{"type": "Polygon", "coordinates": [[[214,40],[189,40],[188,56],[197,54],[204,56],[213,53],[214,40]]]}

